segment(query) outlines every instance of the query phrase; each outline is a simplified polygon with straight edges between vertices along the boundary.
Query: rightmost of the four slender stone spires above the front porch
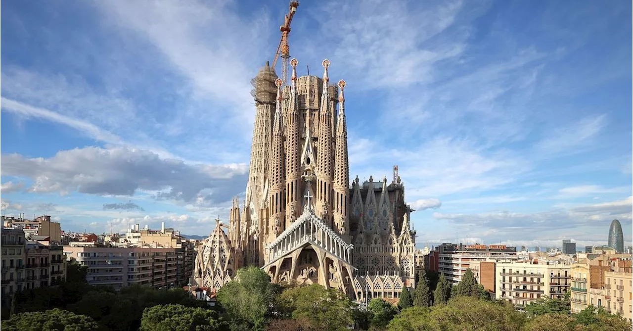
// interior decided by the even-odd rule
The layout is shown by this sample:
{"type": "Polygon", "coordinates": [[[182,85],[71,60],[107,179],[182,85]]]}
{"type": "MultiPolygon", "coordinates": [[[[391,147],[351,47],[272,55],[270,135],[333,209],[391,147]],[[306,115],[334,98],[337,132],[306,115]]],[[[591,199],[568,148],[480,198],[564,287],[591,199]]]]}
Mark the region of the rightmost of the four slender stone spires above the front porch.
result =
{"type": "Polygon", "coordinates": [[[334,223],[341,235],[349,233],[349,159],[348,128],[345,120],[345,85],[344,80],[339,80],[339,117],[336,121],[334,151],[334,223]]]}

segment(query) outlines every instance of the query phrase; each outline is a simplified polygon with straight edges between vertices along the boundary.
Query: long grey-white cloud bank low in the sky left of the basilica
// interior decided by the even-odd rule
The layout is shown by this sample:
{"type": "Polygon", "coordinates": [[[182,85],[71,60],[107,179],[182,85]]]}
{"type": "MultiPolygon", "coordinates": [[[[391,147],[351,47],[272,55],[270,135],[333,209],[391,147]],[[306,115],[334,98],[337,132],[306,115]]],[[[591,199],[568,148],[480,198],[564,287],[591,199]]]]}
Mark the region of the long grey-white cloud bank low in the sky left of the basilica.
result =
{"type": "Polygon", "coordinates": [[[229,201],[242,192],[246,165],[189,165],[141,149],[85,147],[52,158],[0,155],[0,176],[28,177],[30,192],[81,192],[132,196],[139,189],[166,190],[159,199],[210,203],[229,201]]]}

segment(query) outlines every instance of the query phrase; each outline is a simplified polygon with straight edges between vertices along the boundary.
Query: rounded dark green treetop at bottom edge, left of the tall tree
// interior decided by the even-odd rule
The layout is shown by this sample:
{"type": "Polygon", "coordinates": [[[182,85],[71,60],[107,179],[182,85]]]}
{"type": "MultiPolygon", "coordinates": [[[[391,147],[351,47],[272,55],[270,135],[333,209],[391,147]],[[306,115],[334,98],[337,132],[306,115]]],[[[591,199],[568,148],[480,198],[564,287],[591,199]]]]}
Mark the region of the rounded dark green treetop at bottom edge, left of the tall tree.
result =
{"type": "Polygon", "coordinates": [[[143,312],[141,331],[216,331],[228,325],[210,309],[185,307],[181,304],[153,306],[143,312]]]}

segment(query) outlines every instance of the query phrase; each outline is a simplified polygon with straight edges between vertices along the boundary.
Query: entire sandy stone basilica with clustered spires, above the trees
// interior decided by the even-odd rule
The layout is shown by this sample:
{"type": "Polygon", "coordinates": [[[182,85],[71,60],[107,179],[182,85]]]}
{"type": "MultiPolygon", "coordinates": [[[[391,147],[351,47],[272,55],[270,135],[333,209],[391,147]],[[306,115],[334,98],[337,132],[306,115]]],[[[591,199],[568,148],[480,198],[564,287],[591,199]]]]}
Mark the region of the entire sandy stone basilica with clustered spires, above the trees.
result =
{"type": "Polygon", "coordinates": [[[233,201],[198,247],[195,282],[219,289],[242,266],[280,284],[321,284],[356,300],[415,286],[415,231],[404,185],[349,180],[346,83],[297,77],[283,86],[268,63],[253,78],[256,115],[246,199],[233,201]],[[227,232],[223,230],[227,228],[227,232]]]}

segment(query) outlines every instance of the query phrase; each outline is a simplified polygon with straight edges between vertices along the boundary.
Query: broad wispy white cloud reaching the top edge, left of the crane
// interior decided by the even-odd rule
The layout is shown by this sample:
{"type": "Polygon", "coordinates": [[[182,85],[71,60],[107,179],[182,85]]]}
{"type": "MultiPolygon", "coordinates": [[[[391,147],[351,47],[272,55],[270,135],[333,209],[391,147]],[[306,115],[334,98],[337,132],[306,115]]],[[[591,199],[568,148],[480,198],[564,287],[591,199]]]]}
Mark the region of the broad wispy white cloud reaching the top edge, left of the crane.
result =
{"type": "MultiPolygon", "coordinates": [[[[133,31],[156,46],[189,79],[197,97],[210,97],[216,106],[225,105],[206,107],[204,117],[231,120],[235,116],[234,125],[246,129],[253,121],[249,80],[264,64],[262,51],[269,48],[272,30],[266,12],[238,15],[236,5],[235,1],[196,0],[97,3],[123,33],[133,31]]],[[[200,115],[195,116],[202,119],[200,115]]]]}

